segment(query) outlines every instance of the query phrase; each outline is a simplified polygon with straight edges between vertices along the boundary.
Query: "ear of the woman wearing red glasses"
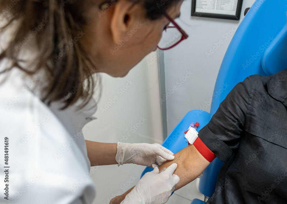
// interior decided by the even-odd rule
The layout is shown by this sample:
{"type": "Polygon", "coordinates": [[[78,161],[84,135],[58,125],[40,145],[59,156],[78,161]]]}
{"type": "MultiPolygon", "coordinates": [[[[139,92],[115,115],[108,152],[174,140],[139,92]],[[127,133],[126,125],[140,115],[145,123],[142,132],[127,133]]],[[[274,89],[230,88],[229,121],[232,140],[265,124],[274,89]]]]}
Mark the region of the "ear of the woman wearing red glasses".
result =
{"type": "MultiPolygon", "coordinates": [[[[119,0],[114,6],[110,29],[113,41],[117,44],[125,37],[130,39],[131,34],[133,34],[130,30],[136,28],[139,23],[144,23],[146,11],[143,6],[129,0],[119,0]]],[[[129,41],[133,41],[133,39],[129,41]]]]}

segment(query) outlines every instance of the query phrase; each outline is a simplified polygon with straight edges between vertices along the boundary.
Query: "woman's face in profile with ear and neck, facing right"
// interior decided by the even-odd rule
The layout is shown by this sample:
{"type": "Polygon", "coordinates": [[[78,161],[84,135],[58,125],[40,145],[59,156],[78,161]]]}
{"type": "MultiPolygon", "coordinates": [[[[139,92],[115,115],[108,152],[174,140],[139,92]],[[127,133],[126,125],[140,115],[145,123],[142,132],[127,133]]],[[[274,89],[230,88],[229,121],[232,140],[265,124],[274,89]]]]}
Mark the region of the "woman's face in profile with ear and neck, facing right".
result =
{"type": "MultiPolygon", "coordinates": [[[[166,13],[175,19],[180,14],[179,1],[166,13]]],[[[145,9],[128,0],[119,0],[106,10],[96,6],[88,10],[88,25],[81,43],[96,65],[98,72],[123,77],[147,54],[157,49],[166,17],[158,20],[145,18],[145,9]]]]}

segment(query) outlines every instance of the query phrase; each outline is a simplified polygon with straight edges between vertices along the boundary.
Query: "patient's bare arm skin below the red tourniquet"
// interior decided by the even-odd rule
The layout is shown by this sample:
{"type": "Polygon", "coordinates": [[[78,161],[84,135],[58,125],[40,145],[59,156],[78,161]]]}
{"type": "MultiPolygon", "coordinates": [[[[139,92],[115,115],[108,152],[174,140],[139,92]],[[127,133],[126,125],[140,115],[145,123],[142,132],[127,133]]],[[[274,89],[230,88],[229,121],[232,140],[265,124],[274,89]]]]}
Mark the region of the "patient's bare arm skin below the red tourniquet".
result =
{"type": "MultiPolygon", "coordinates": [[[[194,147],[194,145],[189,145],[182,149],[181,151],[174,154],[174,160],[164,162],[159,170],[162,170],[164,167],[170,166],[175,160],[177,161],[177,169],[174,171],[174,174],[179,176],[179,183],[175,185],[175,190],[185,186],[189,182],[195,180],[205,168],[210,164],[194,147]],[[179,159],[177,159],[179,158],[179,159]]],[[[117,196],[110,201],[110,204],[119,204],[125,199],[125,196],[131,192],[129,189],[123,195],[117,196]]]]}

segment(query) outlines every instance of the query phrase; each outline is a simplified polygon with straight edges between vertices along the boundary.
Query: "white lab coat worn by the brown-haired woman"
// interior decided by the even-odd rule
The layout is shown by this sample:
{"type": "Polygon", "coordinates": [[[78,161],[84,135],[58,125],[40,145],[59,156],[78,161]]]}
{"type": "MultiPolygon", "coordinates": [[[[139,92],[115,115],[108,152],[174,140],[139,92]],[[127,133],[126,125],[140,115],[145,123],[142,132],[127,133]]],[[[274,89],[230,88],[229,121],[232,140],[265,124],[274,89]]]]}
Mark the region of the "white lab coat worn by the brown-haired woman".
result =
{"type": "MultiPolygon", "coordinates": [[[[0,70],[5,63],[0,62],[0,70]]],[[[0,203],[92,203],[95,186],[82,127],[96,119],[95,101],[79,111],[75,106],[81,101],[64,111],[58,110],[62,105],[58,102],[47,107],[29,88],[33,80],[22,75],[18,68],[4,82],[7,74],[0,75],[0,203]],[[5,137],[9,138],[8,164],[5,137]],[[4,199],[5,184],[9,184],[9,201],[4,199]]]]}

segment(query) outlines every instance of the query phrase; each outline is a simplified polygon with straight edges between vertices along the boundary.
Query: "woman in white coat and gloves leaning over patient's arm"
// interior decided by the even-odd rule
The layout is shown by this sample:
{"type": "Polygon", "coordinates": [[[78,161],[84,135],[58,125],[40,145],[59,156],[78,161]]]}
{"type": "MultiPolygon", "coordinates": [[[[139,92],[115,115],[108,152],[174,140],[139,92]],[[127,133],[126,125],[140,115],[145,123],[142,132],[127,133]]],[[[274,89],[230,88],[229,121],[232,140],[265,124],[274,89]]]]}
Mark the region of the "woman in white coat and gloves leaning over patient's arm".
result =
{"type": "MultiPolygon", "coordinates": [[[[182,1],[0,1],[1,203],[92,203],[90,166],[174,159],[158,144],[85,141],[82,128],[95,119],[98,73],[127,75],[157,49],[182,1]]],[[[181,35],[163,49],[187,37],[174,26],[181,35]]],[[[123,203],[165,203],[176,168],[154,168],[123,203]]]]}

